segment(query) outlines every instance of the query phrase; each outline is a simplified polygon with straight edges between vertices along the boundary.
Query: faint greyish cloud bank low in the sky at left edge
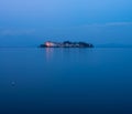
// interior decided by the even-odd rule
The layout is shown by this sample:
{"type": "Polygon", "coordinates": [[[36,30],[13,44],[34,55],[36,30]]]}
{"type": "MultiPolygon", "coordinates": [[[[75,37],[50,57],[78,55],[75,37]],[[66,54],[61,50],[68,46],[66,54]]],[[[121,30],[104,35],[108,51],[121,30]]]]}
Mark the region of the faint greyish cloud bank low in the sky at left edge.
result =
{"type": "Polygon", "coordinates": [[[34,32],[35,29],[0,29],[0,35],[29,35],[34,32]]]}

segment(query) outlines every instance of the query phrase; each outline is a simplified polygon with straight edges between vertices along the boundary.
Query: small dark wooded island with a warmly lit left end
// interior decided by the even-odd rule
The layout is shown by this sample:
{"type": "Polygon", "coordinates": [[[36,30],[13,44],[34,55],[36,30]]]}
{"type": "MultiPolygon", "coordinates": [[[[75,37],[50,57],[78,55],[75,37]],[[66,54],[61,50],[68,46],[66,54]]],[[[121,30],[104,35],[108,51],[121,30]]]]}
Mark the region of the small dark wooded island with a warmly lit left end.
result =
{"type": "Polygon", "coordinates": [[[94,48],[94,44],[86,42],[70,42],[70,41],[64,41],[64,42],[46,41],[43,44],[41,44],[40,48],[94,48]]]}

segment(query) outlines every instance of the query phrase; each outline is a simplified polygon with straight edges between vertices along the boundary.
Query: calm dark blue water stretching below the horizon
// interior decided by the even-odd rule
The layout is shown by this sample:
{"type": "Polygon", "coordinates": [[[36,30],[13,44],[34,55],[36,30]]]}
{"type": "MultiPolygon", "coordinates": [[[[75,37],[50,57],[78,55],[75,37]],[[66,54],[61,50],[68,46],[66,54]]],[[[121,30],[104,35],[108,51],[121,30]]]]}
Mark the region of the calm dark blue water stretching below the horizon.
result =
{"type": "Polygon", "coordinates": [[[0,49],[0,114],[132,114],[132,49],[0,49]]]}

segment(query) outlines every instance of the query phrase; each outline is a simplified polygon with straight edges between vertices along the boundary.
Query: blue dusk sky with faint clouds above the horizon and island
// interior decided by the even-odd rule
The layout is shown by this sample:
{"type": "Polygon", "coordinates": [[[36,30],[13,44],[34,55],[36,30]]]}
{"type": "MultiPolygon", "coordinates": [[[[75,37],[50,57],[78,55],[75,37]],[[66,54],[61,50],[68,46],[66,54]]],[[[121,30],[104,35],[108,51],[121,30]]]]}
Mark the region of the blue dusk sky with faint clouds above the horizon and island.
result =
{"type": "Polygon", "coordinates": [[[0,46],[132,44],[132,0],[0,0],[0,46]]]}

